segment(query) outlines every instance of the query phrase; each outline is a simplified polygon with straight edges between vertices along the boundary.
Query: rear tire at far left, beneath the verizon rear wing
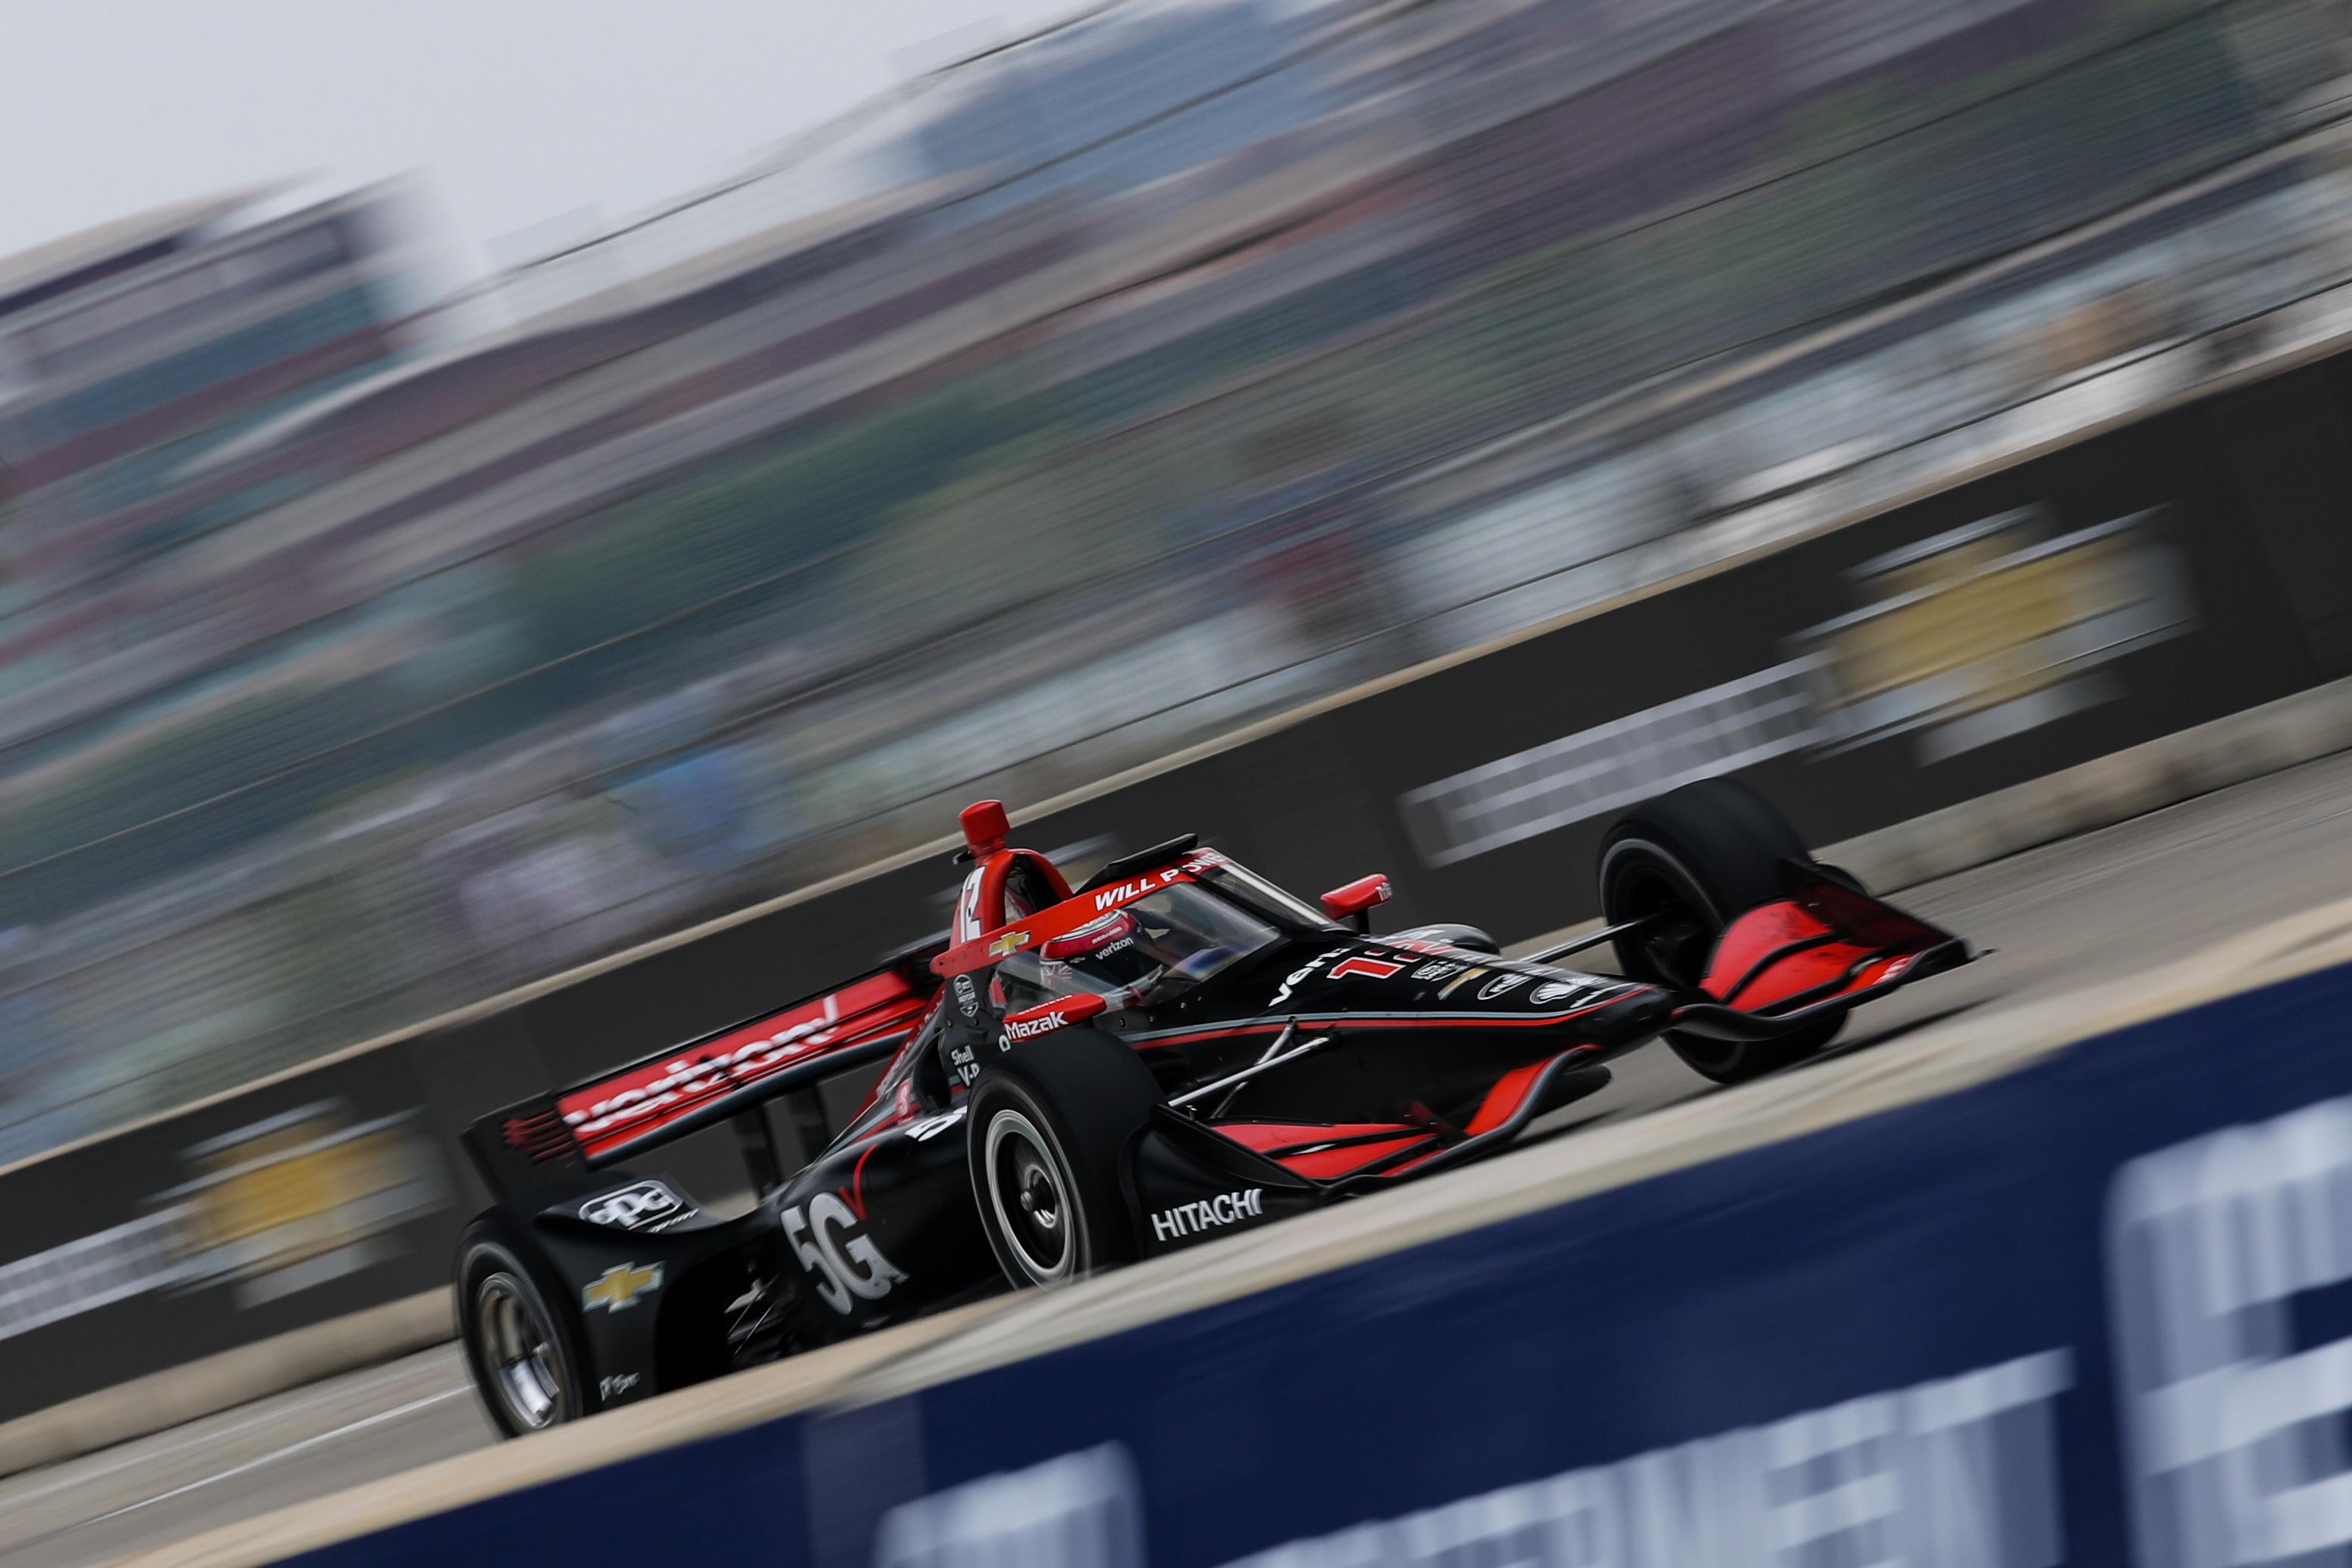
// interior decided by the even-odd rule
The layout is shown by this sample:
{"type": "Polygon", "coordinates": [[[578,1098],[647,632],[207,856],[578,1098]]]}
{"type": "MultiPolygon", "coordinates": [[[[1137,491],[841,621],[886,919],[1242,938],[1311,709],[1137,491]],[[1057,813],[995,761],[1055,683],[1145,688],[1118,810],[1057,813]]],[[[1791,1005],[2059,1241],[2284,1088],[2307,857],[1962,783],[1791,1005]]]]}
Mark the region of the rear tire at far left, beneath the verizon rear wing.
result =
{"type": "Polygon", "coordinates": [[[572,1291],[513,1222],[487,1213],[456,1246],[456,1324],[466,1371],[499,1436],[527,1436],[595,1410],[572,1291]]]}

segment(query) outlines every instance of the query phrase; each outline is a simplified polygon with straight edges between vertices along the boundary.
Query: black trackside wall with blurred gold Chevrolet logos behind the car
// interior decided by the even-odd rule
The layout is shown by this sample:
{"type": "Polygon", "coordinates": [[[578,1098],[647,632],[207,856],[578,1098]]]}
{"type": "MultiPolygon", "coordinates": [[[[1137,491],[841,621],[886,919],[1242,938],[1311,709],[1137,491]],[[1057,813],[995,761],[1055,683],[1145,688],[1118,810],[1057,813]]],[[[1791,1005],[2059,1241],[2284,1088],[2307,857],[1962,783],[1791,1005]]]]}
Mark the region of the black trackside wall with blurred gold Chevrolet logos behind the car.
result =
{"type": "MultiPolygon", "coordinates": [[[[1980,802],[2352,675],[2347,425],[2338,343],[1016,811],[1021,837],[1084,865],[1197,830],[1512,940],[1592,914],[1609,813],[1684,778],[1745,773],[1813,844],[1980,802]]],[[[2213,783],[2169,769],[2143,806],[2213,783]]],[[[913,856],[0,1173],[0,1422],[440,1288],[470,1117],[870,964],[950,886],[913,856]]],[[[724,1133],[663,1164],[741,1182],[724,1133]]]]}

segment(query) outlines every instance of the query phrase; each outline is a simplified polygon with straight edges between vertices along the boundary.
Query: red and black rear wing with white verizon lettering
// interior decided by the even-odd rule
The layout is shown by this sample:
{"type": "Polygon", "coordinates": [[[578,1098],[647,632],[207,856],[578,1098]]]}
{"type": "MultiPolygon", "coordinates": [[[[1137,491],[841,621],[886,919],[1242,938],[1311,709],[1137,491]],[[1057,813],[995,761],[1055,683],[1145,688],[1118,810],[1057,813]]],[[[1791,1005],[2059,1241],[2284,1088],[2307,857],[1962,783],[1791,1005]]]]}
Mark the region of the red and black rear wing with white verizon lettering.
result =
{"type": "MultiPolygon", "coordinates": [[[[938,994],[920,943],[877,969],[607,1074],[499,1107],[466,1128],[492,1194],[508,1197],[597,1171],[767,1100],[891,1058],[938,994]]],[[[760,1145],[769,1145],[764,1121],[760,1145]]]]}

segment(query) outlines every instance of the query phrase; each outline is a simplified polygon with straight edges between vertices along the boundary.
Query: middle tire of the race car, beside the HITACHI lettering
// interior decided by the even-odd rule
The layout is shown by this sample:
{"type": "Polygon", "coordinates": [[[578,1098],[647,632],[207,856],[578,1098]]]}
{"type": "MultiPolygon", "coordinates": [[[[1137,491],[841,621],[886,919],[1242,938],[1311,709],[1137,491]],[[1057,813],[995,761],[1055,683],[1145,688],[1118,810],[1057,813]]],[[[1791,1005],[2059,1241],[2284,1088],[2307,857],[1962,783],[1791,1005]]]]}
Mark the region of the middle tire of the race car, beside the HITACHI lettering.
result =
{"type": "Polygon", "coordinates": [[[1023,1291],[1056,1291],[1138,1253],[1122,1180],[1160,1084],[1131,1046],[1058,1030],[971,1086],[967,1164],[981,1229],[1023,1291]]]}

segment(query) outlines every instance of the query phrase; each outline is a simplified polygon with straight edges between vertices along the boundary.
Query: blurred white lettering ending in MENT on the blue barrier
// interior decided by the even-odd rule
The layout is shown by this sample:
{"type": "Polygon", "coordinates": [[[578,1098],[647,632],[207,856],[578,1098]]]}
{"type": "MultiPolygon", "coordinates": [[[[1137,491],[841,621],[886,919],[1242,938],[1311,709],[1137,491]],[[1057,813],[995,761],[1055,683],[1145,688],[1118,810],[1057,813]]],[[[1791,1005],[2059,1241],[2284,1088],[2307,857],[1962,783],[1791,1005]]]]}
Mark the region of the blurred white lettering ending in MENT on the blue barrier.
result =
{"type": "MultiPolygon", "coordinates": [[[[2072,1382],[2072,1354],[2044,1349],[1418,1514],[1350,1523],[1228,1568],[2046,1568],[2065,1561],[2056,1403],[2072,1382]]],[[[2263,1493],[2246,1483],[2241,1490],[2265,1502],[2293,1497],[2293,1488],[2263,1493]]],[[[2230,1537],[2216,1544],[2227,1549],[2230,1537]]]]}

